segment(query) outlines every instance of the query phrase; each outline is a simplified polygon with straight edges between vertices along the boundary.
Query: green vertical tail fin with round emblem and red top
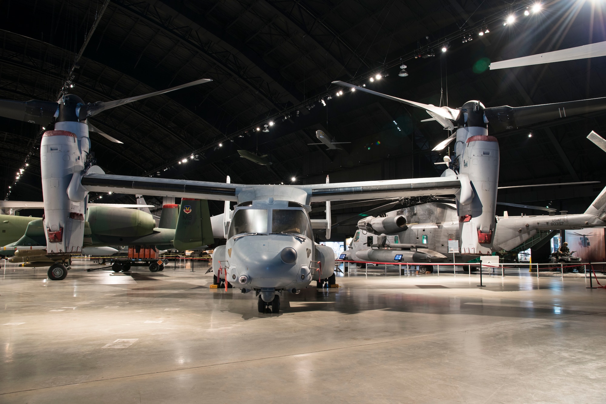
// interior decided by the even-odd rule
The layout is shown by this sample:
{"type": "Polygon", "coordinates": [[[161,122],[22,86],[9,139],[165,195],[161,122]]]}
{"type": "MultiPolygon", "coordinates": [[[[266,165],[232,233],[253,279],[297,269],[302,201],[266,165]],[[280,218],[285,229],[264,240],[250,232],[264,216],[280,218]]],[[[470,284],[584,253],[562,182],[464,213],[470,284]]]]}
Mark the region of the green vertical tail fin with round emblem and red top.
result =
{"type": "Polygon", "coordinates": [[[199,250],[215,243],[207,200],[183,199],[173,245],[179,251],[199,250]]]}

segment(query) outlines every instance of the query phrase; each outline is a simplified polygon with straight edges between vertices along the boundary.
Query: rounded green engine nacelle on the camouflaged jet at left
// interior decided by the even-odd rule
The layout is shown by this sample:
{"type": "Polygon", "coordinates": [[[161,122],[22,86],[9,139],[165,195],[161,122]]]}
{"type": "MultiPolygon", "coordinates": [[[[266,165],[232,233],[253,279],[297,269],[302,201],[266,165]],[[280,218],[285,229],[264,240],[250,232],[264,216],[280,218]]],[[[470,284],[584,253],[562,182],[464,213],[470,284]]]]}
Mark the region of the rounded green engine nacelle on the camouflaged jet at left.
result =
{"type": "Polygon", "coordinates": [[[87,219],[90,231],[101,236],[140,237],[156,227],[149,213],[125,207],[89,206],[87,219]]]}

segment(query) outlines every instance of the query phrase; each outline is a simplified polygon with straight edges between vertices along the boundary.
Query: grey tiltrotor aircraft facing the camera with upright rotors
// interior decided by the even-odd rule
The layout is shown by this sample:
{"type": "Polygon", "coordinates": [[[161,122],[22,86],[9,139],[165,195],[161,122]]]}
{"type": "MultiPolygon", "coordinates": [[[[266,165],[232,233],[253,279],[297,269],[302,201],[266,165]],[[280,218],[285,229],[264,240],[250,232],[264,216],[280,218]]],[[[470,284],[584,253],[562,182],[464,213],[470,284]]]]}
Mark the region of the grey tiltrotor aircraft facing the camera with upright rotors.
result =
{"type": "MultiPolygon", "coordinates": [[[[198,80],[202,81],[208,80],[198,80]]],[[[555,118],[558,108],[565,107],[568,116],[606,109],[606,99],[522,108],[484,108],[482,103],[470,101],[459,109],[452,109],[379,94],[424,108],[446,128],[456,126],[453,135],[457,139],[456,158],[446,174],[436,178],[247,185],[107,175],[92,165],[88,154],[90,125],[87,125],[87,118],[153,94],[94,104],[84,103],[73,94],[65,95],[58,103],[0,100],[0,116],[37,123],[48,123],[56,117],[55,129],[44,132],[41,143],[43,229],[47,252],[50,256],[81,252],[84,200],[91,191],[236,201],[238,204],[233,213],[229,204],[225,204],[222,229],[227,244],[215,250],[213,269],[218,281],[224,279],[238,284],[242,292],[254,290],[259,295],[259,311],[265,311],[269,305],[272,311],[279,311],[280,300],[276,293],[288,290],[296,293],[312,280],[321,281],[333,276],[335,257],[332,249],[315,243],[312,238],[308,216],[311,203],[327,202],[325,226],[330,237],[330,201],[455,195],[458,216],[464,218],[459,220],[464,247],[485,253],[489,249],[482,244],[490,243],[494,230],[491,204],[496,201],[498,177],[495,153],[498,143],[487,135],[488,119],[494,119],[504,127],[513,127],[516,122],[535,123],[555,118]]],[[[188,209],[182,209],[179,215],[199,220],[188,209]]],[[[56,275],[65,270],[61,264],[54,264],[48,270],[49,277],[56,279],[56,275]]]]}

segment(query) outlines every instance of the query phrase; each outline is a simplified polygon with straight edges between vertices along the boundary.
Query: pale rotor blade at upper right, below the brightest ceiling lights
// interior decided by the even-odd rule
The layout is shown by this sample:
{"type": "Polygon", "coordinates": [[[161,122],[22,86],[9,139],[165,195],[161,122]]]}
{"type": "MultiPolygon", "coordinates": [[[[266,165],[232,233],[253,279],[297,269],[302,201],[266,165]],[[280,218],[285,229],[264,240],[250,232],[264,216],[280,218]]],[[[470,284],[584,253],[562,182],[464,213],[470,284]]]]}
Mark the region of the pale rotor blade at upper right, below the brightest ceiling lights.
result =
{"type": "Polygon", "coordinates": [[[606,56],[606,42],[582,45],[580,47],[561,49],[557,51],[532,54],[530,56],[516,57],[515,59],[501,60],[489,65],[490,70],[505,69],[530,65],[541,65],[551,62],[564,62],[564,60],[587,59],[589,57],[606,56]]]}

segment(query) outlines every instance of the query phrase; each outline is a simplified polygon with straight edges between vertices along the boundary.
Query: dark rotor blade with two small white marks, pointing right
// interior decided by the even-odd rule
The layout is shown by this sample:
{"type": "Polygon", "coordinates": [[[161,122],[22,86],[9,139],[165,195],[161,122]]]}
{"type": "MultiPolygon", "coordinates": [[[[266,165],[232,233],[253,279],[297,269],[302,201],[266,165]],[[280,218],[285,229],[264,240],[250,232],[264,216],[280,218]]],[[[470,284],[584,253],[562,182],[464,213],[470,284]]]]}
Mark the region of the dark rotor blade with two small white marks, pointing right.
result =
{"type": "Polygon", "coordinates": [[[606,110],[606,97],[553,104],[485,108],[484,114],[494,132],[520,128],[534,123],[606,110]]]}

